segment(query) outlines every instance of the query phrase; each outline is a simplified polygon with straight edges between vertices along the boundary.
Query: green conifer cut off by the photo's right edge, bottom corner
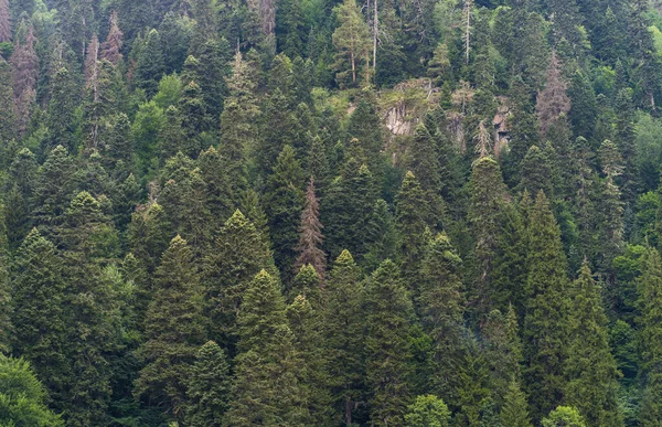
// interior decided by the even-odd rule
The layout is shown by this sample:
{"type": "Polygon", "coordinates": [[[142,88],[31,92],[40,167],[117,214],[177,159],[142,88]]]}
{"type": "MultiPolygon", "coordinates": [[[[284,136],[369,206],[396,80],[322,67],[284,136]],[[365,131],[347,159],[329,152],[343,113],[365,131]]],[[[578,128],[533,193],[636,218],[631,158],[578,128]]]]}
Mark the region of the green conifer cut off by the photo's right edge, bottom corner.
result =
{"type": "Polygon", "coordinates": [[[645,254],[642,265],[639,298],[641,301],[641,374],[643,393],[639,423],[641,426],[655,426],[662,419],[662,372],[660,361],[662,350],[660,337],[662,316],[660,314],[660,299],[662,298],[662,261],[660,254],[650,248],[645,254]]]}

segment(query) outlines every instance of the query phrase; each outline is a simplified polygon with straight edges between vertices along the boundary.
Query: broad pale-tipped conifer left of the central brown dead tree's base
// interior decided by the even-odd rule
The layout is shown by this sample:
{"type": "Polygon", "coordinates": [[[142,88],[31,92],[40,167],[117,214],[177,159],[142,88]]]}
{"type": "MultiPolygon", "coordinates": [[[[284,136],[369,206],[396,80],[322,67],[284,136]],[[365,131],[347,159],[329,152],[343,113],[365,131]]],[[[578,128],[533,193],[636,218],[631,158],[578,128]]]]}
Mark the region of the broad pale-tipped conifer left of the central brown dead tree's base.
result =
{"type": "Polygon", "coordinates": [[[202,282],[205,316],[211,319],[210,338],[217,342],[234,341],[236,316],[248,284],[261,269],[273,264],[264,237],[239,211],[218,232],[203,261],[202,282]]]}

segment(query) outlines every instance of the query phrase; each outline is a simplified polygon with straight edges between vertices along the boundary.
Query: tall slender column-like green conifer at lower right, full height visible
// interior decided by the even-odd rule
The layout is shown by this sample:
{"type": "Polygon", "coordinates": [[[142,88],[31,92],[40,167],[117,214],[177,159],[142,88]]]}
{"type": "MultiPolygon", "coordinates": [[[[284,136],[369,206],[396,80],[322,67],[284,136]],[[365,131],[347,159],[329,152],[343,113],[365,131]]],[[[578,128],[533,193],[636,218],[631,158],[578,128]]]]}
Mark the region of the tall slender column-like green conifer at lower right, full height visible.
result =
{"type": "Polygon", "coordinates": [[[528,277],[524,317],[524,378],[534,419],[558,405],[566,385],[567,265],[549,202],[540,192],[528,216],[528,277]]]}

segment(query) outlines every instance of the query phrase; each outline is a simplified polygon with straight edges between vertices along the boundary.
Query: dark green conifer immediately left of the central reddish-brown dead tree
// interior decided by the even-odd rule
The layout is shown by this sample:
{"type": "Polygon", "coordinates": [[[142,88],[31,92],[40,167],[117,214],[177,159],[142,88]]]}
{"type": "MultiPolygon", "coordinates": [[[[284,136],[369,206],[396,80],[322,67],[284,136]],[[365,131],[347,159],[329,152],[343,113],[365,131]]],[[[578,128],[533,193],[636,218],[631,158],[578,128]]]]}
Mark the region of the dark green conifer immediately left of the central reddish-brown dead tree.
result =
{"type": "Polygon", "coordinates": [[[302,186],[301,164],[295,157],[295,150],[286,146],[278,156],[274,173],[267,180],[265,194],[265,211],[269,218],[274,258],[286,279],[292,275],[292,266],[297,259],[295,248],[299,234],[296,224],[303,210],[302,186]]]}

